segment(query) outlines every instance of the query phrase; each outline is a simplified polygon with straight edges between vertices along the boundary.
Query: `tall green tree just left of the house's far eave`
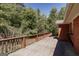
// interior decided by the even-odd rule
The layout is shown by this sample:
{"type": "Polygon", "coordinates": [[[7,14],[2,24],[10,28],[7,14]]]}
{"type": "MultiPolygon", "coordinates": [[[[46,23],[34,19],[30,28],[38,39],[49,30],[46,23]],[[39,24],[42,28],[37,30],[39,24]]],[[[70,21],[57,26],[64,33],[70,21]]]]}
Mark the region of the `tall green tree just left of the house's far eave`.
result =
{"type": "Polygon", "coordinates": [[[55,24],[56,19],[57,19],[57,9],[53,7],[50,11],[48,21],[47,21],[49,25],[48,30],[52,32],[53,35],[56,35],[56,31],[57,31],[56,24],[55,24]]]}

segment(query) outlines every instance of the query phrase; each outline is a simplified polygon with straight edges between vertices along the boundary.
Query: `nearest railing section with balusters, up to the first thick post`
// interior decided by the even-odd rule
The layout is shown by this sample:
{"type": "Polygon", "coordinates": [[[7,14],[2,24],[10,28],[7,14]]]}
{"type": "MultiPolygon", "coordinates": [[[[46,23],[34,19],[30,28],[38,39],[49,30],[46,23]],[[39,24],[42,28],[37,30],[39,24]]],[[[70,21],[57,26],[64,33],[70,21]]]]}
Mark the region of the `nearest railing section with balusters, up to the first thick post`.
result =
{"type": "Polygon", "coordinates": [[[0,40],[0,55],[8,55],[22,48],[23,37],[0,40]]]}

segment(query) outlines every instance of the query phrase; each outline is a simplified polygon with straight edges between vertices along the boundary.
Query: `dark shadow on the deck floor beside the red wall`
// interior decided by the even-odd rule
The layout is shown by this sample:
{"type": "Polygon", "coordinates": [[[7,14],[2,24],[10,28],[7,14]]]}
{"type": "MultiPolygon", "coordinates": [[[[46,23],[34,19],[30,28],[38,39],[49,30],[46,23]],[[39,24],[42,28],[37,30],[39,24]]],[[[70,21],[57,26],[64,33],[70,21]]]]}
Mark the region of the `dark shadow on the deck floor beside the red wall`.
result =
{"type": "Polygon", "coordinates": [[[70,42],[58,41],[53,56],[77,56],[70,42]]]}

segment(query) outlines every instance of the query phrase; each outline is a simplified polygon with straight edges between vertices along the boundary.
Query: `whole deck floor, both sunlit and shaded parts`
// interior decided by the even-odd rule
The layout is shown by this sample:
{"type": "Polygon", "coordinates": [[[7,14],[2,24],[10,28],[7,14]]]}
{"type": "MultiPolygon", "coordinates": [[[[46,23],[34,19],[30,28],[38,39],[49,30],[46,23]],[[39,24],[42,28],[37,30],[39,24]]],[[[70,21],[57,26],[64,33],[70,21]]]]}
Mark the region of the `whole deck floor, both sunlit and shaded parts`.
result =
{"type": "Polygon", "coordinates": [[[46,37],[8,56],[78,56],[70,42],[46,37]]]}

